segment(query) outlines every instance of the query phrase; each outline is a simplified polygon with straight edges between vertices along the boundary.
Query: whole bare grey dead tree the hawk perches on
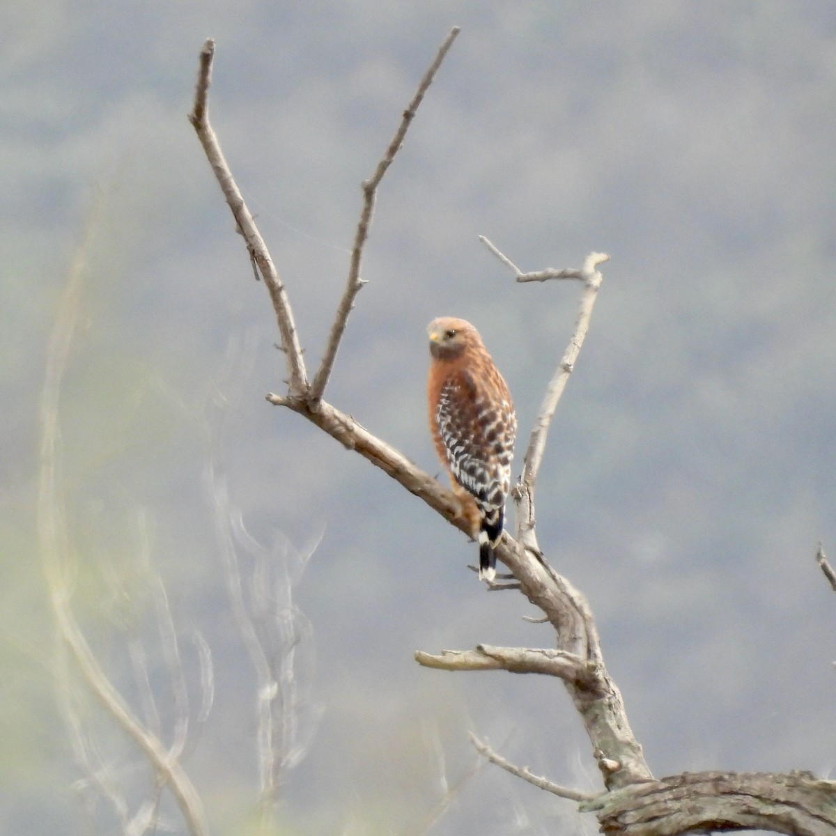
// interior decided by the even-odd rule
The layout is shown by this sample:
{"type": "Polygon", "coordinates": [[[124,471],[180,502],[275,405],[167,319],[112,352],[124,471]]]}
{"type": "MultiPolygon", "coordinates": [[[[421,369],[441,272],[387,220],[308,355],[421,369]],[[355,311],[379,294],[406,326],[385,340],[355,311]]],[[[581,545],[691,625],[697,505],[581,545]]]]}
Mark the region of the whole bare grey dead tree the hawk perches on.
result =
{"type": "MultiPolygon", "coordinates": [[[[270,394],[267,400],[302,415],[346,448],[380,467],[447,522],[462,528],[464,523],[457,516],[459,503],[451,491],[360,426],[354,418],[324,400],[340,339],[357,293],[364,284],[361,277],[363,250],[375,209],[377,187],[400,149],[415,111],[457,34],[458,29],[453,28],[441,44],[374,173],[363,183],[362,209],[346,287],[339,299],[323,359],[314,373],[313,382],[308,380],[288,292],[209,122],[207,98],[215,50],[212,39],[206,41],[201,51],[190,120],[232,210],[238,232],[244,238],[253,270],[257,277],[263,278],[273,303],[288,376],[287,390],[283,394],[270,394]]],[[[512,269],[517,282],[567,279],[579,281],[583,287],[574,332],[543,397],[543,405],[529,436],[523,474],[513,491],[517,512],[515,536],[506,533],[497,549],[498,558],[510,570],[507,580],[511,582],[493,584],[495,589],[518,589],[538,607],[543,612],[541,620],[553,626],[556,646],[531,649],[478,645],[474,650],[446,650],[435,655],[418,652],[415,659],[421,665],[442,670],[499,669],[551,675],[562,681],[589,736],[592,755],[604,783],[602,792],[589,796],[560,787],[533,775],[526,768],[507,762],[486,743],[477,739],[473,742],[478,752],[498,766],[548,792],[572,800],[582,811],[594,813],[604,833],[664,836],[707,829],[747,828],[815,836],[836,833],[836,783],[820,780],[809,772],[686,772],[661,779],[656,779],[650,772],[640,744],[630,730],[618,687],[604,665],[589,604],[568,579],[548,565],[536,536],[535,489],[548,428],[589,327],[602,281],[597,268],[607,257],[591,253],[578,269],[523,273],[490,242],[485,243],[512,269]]]]}

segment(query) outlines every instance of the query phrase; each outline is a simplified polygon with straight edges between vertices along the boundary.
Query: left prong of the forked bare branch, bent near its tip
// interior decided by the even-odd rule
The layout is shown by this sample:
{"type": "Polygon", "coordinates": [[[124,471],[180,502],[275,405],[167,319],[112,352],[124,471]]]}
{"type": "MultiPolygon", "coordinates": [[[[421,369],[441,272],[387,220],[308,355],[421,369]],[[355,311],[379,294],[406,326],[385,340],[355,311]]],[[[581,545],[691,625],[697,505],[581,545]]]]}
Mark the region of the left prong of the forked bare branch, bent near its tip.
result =
{"type": "Polygon", "coordinates": [[[197,74],[194,108],[189,115],[189,121],[197,132],[197,138],[206,153],[206,159],[212,166],[218,185],[221,186],[223,196],[235,217],[237,231],[247,242],[247,252],[250,259],[257,264],[258,270],[264,278],[264,285],[270,293],[273,310],[276,312],[276,322],[279,334],[282,336],[282,350],[288,364],[288,386],[293,395],[302,395],[308,390],[308,373],[302,358],[302,346],[299,344],[296,324],[293,321],[293,310],[290,307],[288,294],[282,280],[270,257],[267,245],[258,232],[256,222],[252,218],[241,191],[232,177],[227,160],[221,150],[215,131],[209,122],[208,94],[212,83],[212,59],[215,55],[215,41],[208,38],[201,50],[200,70],[197,74]]]}

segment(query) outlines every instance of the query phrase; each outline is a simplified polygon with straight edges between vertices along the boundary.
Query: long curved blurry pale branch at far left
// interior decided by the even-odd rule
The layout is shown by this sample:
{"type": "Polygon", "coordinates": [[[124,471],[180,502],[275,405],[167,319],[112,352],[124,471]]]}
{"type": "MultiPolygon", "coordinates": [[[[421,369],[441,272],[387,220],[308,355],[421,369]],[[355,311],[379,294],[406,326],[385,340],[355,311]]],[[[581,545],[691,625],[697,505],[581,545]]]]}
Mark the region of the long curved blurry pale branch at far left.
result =
{"type": "Polygon", "coordinates": [[[203,836],[206,833],[206,824],[196,789],[180,762],[175,757],[171,757],[158,737],[136,720],[119,691],[101,669],[69,603],[70,585],[66,578],[66,555],[69,552],[69,543],[59,492],[59,393],[78,320],[84,254],[93,228],[94,221],[91,217],[87,222],[84,238],[75,253],[59,303],[59,312],[49,344],[46,379],[41,395],[38,538],[43,572],[58,635],[64,647],[69,650],[69,655],[74,660],[85,684],[105,711],[145,753],[145,757],[161,782],[171,789],[192,836],[203,836]]]}

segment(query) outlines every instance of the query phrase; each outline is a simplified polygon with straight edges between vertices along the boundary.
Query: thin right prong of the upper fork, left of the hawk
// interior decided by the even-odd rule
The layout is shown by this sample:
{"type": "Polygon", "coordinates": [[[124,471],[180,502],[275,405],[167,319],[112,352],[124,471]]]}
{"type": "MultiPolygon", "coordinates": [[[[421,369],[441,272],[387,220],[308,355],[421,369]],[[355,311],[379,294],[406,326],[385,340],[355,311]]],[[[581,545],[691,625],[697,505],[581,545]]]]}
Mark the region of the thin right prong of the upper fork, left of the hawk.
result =
{"type": "Polygon", "coordinates": [[[407,106],[406,110],[404,110],[400,119],[400,125],[398,125],[398,130],[395,131],[395,135],[392,137],[392,140],[386,148],[383,157],[377,164],[375,173],[369,178],[369,180],[366,180],[363,183],[363,208],[360,212],[357,230],[354,232],[354,246],[351,248],[349,278],[345,285],[343,298],[339,300],[337,314],[334,318],[334,324],[331,326],[331,332],[329,334],[328,344],[325,347],[322,362],[319,364],[319,370],[317,370],[317,373],[314,376],[314,384],[310,389],[309,402],[314,406],[314,408],[317,404],[319,404],[319,401],[322,400],[325,386],[328,385],[331,371],[334,368],[334,360],[337,357],[339,343],[340,340],[343,339],[345,324],[349,319],[351,308],[354,307],[354,297],[357,296],[360,288],[362,288],[365,283],[364,279],[360,278],[360,265],[363,260],[363,247],[366,242],[366,238],[369,237],[369,227],[371,226],[372,216],[375,212],[377,187],[380,186],[380,181],[383,180],[383,176],[392,164],[392,161],[395,159],[395,154],[397,154],[400,150],[406,131],[409,129],[412,120],[415,118],[415,112],[418,110],[421,100],[424,98],[430,84],[432,84],[432,79],[435,77],[438,68],[441,67],[441,62],[444,60],[458,33],[459,28],[454,26],[451,29],[450,34],[448,34],[444,39],[444,43],[441,44],[441,47],[439,47],[438,52],[436,53],[436,58],[433,60],[432,64],[430,64],[429,69],[427,69],[424,77],[421,79],[421,84],[418,85],[418,89],[415,91],[412,101],[410,101],[410,104],[407,106]]]}

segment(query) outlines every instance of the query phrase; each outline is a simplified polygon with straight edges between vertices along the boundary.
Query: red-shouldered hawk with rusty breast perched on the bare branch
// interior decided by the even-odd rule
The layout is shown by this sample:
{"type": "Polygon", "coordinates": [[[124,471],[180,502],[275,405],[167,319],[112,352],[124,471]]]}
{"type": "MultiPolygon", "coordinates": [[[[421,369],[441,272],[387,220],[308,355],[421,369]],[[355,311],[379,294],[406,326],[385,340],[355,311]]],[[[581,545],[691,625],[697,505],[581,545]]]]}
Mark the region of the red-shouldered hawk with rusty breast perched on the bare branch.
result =
{"type": "Polygon", "coordinates": [[[427,326],[430,429],[441,463],[461,499],[462,516],[479,541],[479,577],[496,577],[494,546],[502,537],[517,416],[502,375],[479,332],[464,319],[427,326]]]}

